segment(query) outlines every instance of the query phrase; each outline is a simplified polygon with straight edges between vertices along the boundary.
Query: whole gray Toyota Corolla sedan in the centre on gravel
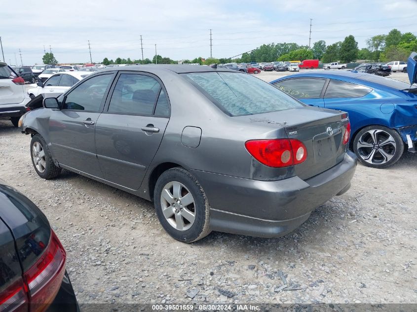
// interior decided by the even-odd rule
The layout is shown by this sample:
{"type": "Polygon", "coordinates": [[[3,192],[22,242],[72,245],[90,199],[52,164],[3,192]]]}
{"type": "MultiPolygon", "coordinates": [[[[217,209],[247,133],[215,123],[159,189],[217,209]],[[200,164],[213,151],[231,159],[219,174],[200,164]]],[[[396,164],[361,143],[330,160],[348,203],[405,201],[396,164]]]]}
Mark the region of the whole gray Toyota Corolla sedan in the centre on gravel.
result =
{"type": "Polygon", "coordinates": [[[67,169],[153,201],[163,228],[279,237],[350,187],[346,113],[230,69],[104,69],[26,113],[39,176],[67,169]]]}

